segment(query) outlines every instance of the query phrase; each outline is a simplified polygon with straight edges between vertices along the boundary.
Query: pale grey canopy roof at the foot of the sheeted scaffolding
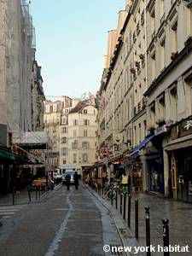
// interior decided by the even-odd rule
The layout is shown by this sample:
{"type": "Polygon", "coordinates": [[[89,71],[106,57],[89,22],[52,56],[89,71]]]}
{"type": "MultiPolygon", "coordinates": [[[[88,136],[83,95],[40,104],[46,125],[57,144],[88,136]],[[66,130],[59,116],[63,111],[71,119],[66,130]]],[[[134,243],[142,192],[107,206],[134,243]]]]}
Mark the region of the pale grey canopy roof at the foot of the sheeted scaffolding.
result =
{"type": "Polygon", "coordinates": [[[18,138],[15,143],[18,144],[47,144],[50,143],[50,137],[46,131],[26,131],[18,138]]]}

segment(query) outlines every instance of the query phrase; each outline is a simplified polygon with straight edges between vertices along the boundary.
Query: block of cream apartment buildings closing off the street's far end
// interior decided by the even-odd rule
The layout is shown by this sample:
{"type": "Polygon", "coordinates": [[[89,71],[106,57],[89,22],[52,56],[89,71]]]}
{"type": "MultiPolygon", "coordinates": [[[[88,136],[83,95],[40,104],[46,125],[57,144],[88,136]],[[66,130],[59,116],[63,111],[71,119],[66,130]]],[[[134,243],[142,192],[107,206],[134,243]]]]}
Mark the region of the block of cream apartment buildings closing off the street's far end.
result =
{"type": "Polygon", "coordinates": [[[59,152],[57,166],[73,165],[82,170],[96,160],[95,97],[84,101],[62,96],[44,103],[44,129],[59,152]]]}

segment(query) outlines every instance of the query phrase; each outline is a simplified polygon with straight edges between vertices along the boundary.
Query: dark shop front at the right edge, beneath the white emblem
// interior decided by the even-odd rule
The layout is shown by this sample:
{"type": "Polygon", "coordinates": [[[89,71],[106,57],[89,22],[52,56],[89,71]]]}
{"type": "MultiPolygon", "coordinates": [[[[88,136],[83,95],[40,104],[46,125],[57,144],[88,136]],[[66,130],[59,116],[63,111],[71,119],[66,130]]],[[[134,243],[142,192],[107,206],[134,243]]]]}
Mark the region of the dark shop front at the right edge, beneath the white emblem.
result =
{"type": "Polygon", "coordinates": [[[192,202],[192,117],[172,127],[171,142],[166,151],[171,157],[172,183],[176,189],[174,197],[192,202]]]}

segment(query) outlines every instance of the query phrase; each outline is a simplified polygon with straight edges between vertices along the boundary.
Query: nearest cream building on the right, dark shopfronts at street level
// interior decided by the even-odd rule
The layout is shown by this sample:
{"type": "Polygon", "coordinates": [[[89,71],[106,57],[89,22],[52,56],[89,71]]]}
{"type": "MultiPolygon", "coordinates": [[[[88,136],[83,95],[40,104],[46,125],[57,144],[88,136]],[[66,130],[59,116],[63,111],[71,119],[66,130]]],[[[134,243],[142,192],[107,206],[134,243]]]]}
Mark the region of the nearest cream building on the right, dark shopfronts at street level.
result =
{"type": "Polygon", "coordinates": [[[148,1],[148,154],[150,190],[192,201],[192,4],[148,1]],[[152,156],[153,155],[153,156],[152,156]],[[172,185],[170,185],[172,184],[172,185]]]}

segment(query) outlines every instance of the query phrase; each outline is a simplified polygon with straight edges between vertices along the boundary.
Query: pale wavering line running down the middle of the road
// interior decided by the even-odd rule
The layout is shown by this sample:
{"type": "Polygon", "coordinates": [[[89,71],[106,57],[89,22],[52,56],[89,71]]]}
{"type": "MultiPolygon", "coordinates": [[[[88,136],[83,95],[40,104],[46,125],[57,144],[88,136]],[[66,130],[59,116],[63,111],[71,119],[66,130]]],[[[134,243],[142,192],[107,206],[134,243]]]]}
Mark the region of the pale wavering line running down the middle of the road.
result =
{"type": "Polygon", "coordinates": [[[62,236],[66,230],[66,226],[67,226],[67,222],[68,222],[68,218],[71,216],[71,213],[73,211],[73,205],[69,199],[70,195],[72,194],[73,191],[70,191],[70,193],[67,195],[67,203],[69,205],[69,209],[67,212],[67,215],[64,219],[64,221],[61,223],[61,227],[60,229],[56,232],[55,238],[54,240],[51,242],[51,244],[49,245],[48,251],[44,256],[53,256],[55,255],[55,251],[58,249],[59,247],[59,242],[62,239],[62,236]]]}

